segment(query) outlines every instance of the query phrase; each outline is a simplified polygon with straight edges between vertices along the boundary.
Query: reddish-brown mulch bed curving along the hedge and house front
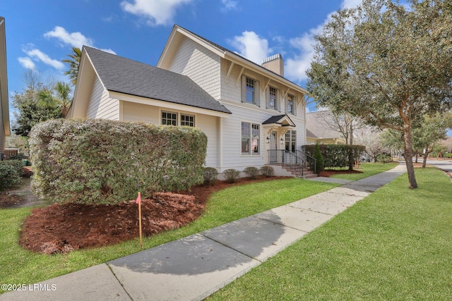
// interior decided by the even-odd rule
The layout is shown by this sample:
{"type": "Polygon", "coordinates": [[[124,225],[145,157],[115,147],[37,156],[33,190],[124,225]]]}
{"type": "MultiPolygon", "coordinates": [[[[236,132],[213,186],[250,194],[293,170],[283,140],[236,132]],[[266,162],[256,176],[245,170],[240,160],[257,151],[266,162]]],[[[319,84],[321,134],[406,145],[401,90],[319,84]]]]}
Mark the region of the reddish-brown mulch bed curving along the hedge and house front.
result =
{"type": "MultiPolygon", "coordinates": [[[[212,192],[232,185],[287,177],[242,178],[237,183],[217,181],[190,191],[156,193],[141,202],[143,236],[179,228],[197,219],[212,192]]],[[[135,200],[116,205],[53,204],[32,209],[20,231],[20,245],[44,254],[66,253],[87,247],[113,245],[138,237],[135,200]]]]}

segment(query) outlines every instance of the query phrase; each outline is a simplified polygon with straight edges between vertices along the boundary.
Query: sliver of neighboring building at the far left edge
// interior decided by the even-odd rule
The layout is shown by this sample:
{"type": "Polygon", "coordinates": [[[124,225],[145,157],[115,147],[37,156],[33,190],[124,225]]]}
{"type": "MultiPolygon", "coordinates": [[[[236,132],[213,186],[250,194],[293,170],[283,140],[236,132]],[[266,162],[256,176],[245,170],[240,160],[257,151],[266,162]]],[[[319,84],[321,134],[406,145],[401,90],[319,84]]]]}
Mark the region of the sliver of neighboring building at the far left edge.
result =
{"type": "Polygon", "coordinates": [[[5,18],[0,17],[0,159],[4,159],[5,137],[11,135],[8,109],[8,78],[6,73],[5,18]]]}

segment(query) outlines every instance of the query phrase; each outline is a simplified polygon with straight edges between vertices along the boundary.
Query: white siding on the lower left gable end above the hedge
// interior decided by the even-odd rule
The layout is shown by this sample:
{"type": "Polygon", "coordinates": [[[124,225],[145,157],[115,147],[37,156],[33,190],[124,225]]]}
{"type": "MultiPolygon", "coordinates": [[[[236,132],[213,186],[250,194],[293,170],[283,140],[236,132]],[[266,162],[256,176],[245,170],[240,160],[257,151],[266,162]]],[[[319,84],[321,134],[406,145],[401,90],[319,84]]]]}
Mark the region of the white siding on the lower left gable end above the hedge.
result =
{"type": "Polygon", "coordinates": [[[119,100],[108,97],[107,90],[104,89],[97,77],[91,92],[86,117],[119,121],[119,100]]]}

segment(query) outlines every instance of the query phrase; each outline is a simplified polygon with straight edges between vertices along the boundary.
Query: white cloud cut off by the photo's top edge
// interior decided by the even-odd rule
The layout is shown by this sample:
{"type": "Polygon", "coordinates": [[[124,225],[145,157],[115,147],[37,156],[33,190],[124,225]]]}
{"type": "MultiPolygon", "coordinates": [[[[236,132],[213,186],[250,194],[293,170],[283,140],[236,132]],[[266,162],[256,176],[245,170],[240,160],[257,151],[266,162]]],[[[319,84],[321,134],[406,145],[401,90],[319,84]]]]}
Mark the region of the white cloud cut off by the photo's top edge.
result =
{"type": "Polygon", "coordinates": [[[177,8],[193,0],[132,0],[122,1],[121,8],[148,20],[148,25],[168,25],[172,23],[177,8]]]}

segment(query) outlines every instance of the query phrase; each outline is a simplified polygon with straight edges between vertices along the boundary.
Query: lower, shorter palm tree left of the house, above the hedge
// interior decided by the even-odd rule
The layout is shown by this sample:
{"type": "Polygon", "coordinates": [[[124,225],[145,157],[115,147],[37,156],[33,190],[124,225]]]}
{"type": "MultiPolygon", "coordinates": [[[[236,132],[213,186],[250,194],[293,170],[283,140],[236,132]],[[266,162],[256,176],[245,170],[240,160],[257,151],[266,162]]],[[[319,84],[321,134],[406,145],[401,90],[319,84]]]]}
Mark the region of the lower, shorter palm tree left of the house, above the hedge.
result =
{"type": "Polygon", "coordinates": [[[59,107],[61,109],[61,114],[66,117],[72,104],[72,99],[69,97],[71,90],[71,86],[69,86],[66,82],[57,82],[53,88],[56,96],[52,94],[52,91],[47,89],[37,92],[38,104],[48,108],[59,107]]]}

